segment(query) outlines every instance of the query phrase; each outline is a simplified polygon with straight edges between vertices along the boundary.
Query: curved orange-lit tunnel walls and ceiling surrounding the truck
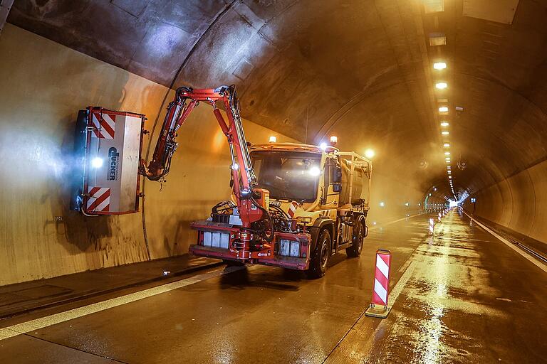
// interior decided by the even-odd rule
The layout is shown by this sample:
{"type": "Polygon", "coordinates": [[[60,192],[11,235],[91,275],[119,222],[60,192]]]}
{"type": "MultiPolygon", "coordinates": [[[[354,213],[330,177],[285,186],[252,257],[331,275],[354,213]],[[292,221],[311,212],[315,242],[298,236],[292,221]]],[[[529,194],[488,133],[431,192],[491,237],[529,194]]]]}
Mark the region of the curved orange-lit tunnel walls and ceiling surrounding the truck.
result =
{"type": "Polygon", "coordinates": [[[0,35],[0,193],[14,206],[0,259],[48,259],[0,283],[187,252],[187,223],[229,194],[207,105],[168,183],[145,183],[141,215],[66,206],[78,109],[147,114],[150,156],[181,85],[236,85],[250,141],[373,149],[373,220],[452,200],[547,242],[546,14],[533,0],[15,1],[0,35]]]}

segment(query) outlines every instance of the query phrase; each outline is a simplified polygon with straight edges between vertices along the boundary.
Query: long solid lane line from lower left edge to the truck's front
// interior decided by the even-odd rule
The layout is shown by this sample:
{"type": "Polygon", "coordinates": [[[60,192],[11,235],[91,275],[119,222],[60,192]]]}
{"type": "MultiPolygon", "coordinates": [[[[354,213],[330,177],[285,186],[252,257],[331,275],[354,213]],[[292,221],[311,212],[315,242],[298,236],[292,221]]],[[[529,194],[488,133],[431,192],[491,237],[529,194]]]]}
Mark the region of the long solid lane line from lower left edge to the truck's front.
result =
{"type": "Polygon", "coordinates": [[[213,272],[199,274],[195,277],[181,279],[177,282],[163,284],[162,286],[152,287],[149,289],[145,289],[144,291],[125,294],[124,296],[115,297],[113,299],[107,299],[106,301],[97,302],[95,304],[78,307],[77,309],[59,312],[58,314],[41,317],[40,319],[26,321],[23,323],[17,323],[16,325],[8,326],[6,328],[0,328],[0,341],[5,340],[6,338],[12,338],[14,336],[21,335],[23,333],[28,333],[30,331],[36,331],[41,328],[56,325],[57,323],[62,323],[72,319],[78,319],[79,317],[87,316],[89,314],[95,314],[95,312],[112,309],[113,307],[121,306],[123,304],[130,304],[131,302],[139,301],[140,299],[146,299],[148,297],[156,296],[157,294],[162,294],[168,291],[173,291],[174,289],[187,287],[190,284],[199,283],[206,279],[219,277],[223,274],[235,272],[244,268],[245,267],[227,267],[224,269],[217,269],[213,272]]]}

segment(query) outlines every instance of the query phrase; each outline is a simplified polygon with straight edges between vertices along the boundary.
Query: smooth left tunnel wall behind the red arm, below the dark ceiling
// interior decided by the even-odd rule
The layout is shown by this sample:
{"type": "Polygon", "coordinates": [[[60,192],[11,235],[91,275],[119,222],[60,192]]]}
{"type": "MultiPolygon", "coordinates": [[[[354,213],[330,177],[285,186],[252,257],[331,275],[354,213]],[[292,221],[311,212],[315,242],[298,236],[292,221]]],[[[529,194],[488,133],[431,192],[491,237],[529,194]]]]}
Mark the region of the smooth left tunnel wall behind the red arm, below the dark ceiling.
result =
{"type": "MultiPolygon", "coordinates": [[[[68,210],[68,167],[78,109],[101,105],[147,114],[151,130],[158,110],[165,112],[167,88],[11,24],[0,36],[0,54],[0,285],[147,259],[140,213],[85,218],[68,210]]],[[[145,182],[152,259],[186,253],[194,240],[189,223],[229,198],[229,154],[209,111],[202,105],[180,130],[162,191],[145,182]]],[[[294,141],[244,124],[249,141],[272,134],[294,141]]],[[[376,173],[370,220],[416,213],[422,196],[419,188],[376,173]]]]}

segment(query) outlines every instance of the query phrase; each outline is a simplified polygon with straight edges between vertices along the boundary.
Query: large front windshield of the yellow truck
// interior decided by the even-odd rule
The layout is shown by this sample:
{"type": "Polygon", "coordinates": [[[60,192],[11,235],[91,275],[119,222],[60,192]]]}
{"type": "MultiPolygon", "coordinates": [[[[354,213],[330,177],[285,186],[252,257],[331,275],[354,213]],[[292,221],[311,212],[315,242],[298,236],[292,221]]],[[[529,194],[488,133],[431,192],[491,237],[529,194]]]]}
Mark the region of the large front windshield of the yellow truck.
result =
{"type": "Polygon", "coordinates": [[[295,151],[254,151],[251,153],[259,187],[270,198],[313,202],[316,200],[321,154],[295,151]]]}

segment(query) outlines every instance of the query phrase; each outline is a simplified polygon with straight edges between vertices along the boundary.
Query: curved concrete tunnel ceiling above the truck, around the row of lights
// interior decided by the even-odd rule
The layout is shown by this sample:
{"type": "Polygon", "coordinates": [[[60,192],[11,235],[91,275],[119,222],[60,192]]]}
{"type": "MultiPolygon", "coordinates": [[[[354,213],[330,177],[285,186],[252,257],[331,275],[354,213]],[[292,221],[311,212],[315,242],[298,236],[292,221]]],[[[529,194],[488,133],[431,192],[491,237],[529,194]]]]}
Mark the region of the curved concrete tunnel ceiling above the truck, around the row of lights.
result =
{"type": "Polygon", "coordinates": [[[448,142],[462,198],[546,158],[546,12],[536,0],[21,0],[9,22],[162,85],[234,83],[247,119],[372,147],[379,173],[452,198],[448,142]]]}

